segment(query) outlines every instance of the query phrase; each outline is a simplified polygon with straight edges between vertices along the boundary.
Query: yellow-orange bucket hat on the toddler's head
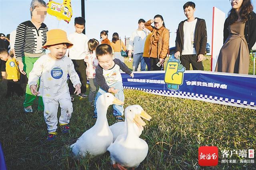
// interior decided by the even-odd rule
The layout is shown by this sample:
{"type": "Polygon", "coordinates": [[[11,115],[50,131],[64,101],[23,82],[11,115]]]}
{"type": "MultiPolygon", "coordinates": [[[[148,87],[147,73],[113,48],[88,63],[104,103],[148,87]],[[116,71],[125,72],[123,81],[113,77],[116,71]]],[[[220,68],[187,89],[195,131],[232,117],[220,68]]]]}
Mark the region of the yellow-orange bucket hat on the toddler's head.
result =
{"type": "Polygon", "coordinates": [[[62,29],[51,29],[46,33],[46,43],[43,48],[47,48],[51,45],[67,43],[68,48],[72,47],[73,44],[68,41],[67,33],[62,29]]]}

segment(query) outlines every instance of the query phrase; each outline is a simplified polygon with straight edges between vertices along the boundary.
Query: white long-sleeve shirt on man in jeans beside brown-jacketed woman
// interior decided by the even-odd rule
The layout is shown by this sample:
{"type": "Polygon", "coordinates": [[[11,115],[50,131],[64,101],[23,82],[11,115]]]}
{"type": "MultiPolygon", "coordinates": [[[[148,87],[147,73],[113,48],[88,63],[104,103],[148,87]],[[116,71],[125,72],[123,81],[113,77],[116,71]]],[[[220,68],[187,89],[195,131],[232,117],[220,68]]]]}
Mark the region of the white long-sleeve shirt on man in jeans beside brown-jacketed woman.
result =
{"type": "Polygon", "coordinates": [[[134,54],[143,53],[144,45],[148,35],[148,30],[143,29],[142,31],[135,30],[129,41],[128,50],[133,49],[134,54]]]}

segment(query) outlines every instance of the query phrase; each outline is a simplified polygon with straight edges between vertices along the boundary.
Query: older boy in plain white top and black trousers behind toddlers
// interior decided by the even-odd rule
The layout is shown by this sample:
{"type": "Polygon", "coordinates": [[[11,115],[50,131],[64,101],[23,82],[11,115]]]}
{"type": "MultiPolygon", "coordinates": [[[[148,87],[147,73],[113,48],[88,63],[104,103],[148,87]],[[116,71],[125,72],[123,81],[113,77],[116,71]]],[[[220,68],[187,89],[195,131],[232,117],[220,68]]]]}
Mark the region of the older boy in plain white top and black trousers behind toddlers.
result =
{"type": "MultiPolygon", "coordinates": [[[[86,63],[84,62],[84,58],[88,53],[88,37],[82,33],[84,31],[85,20],[82,17],[75,18],[75,28],[76,31],[68,35],[68,40],[73,44],[73,46],[68,49],[66,55],[70,57],[72,62],[74,63],[74,67],[76,72],[79,75],[80,81],[82,83],[81,86],[81,94],[80,97],[85,98],[87,95],[86,92],[86,63]]],[[[68,83],[70,94],[74,94],[74,87],[72,83],[69,81],[68,83]]],[[[71,100],[74,101],[74,96],[71,96],[71,100]]]]}

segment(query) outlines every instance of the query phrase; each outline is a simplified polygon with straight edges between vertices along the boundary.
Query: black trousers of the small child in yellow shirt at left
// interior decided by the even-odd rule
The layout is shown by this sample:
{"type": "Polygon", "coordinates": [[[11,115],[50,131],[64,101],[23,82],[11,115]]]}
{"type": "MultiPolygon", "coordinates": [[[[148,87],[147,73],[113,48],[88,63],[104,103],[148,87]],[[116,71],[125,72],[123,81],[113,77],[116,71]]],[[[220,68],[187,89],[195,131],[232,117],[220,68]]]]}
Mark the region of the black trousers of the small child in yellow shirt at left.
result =
{"type": "Polygon", "coordinates": [[[24,91],[20,86],[20,82],[14,82],[13,80],[7,80],[7,93],[6,97],[12,97],[16,93],[18,96],[23,96],[24,91]]]}

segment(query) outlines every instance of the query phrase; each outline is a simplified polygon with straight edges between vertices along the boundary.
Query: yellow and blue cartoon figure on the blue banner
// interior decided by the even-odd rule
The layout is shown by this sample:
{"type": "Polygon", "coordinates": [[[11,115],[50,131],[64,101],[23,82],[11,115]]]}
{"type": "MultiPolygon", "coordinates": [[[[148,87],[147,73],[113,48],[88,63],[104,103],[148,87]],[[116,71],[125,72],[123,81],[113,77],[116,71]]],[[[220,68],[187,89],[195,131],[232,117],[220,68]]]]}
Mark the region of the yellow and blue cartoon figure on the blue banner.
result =
{"type": "Polygon", "coordinates": [[[186,68],[180,64],[180,60],[171,55],[164,75],[164,82],[170,90],[178,90],[179,86],[183,84],[184,71],[186,68]]]}

